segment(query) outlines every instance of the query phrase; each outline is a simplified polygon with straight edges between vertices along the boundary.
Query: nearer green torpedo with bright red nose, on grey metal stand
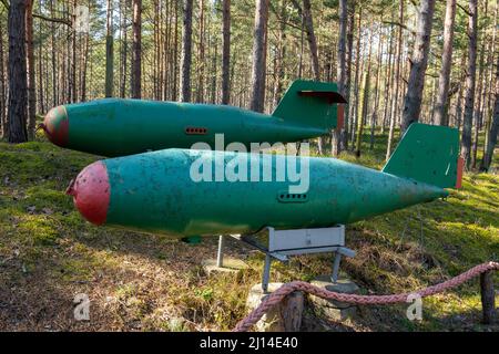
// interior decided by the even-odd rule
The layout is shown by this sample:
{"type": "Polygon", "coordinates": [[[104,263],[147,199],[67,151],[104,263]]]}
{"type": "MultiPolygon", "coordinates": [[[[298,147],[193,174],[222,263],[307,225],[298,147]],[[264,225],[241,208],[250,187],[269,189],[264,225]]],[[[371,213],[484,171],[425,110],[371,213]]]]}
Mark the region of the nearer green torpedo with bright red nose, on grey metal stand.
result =
{"type": "Polygon", "coordinates": [[[95,225],[177,237],[329,227],[446,197],[460,186],[458,140],[457,129],[413,124],[381,171],[335,158],[163,149],[93,163],[68,194],[95,225]]]}

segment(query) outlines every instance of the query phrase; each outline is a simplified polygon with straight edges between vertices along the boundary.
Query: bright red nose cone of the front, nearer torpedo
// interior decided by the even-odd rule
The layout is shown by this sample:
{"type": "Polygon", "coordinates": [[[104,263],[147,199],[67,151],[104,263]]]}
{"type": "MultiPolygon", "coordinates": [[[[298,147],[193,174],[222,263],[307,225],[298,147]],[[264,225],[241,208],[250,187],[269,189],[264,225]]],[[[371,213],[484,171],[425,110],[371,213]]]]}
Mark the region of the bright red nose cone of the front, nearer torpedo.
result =
{"type": "Polygon", "coordinates": [[[90,222],[102,225],[108,217],[110,200],[108,169],[102,162],[86,166],[68,187],[74,206],[90,222]]]}

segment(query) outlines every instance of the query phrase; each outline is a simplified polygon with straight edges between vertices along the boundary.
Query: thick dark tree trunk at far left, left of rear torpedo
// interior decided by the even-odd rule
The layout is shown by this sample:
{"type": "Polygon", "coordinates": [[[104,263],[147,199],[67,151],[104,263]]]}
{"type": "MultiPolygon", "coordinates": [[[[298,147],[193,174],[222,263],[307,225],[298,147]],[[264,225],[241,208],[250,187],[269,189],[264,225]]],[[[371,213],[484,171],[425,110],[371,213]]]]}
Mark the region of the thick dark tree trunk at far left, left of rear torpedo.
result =
{"type": "Polygon", "coordinates": [[[9,7],[9,143],[28,140],[27,70],[26,70],[26,0],[11,0],[9,7]]]}

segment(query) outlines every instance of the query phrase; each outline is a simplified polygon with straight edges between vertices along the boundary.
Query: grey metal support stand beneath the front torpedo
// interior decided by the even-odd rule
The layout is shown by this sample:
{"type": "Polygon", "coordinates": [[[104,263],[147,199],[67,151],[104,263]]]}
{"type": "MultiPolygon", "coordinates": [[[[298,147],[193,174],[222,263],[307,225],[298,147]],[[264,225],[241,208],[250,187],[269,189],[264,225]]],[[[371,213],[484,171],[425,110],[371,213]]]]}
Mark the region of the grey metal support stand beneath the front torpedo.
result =
{"type": "MultiPolygon", "coordinates": [[[[265,253],[265,263],[262,275],[262,289],[264,292],[268,290],[271,263],[273,259],[286,262],[288,256],[333,252],[335,253],[335,258],[333,261],[330,279],[336,283],[338,280],[342,257],[355,257],[355,251],[345,247],[345,226],[343,225],[330,228],[298,230],[275,230],[272,227],[267,227],[266,230],[268,231],[267,244],[262,244],[262,242],[255,239],[254,235],[231,235],[231,237],[265,253]]],[[[224,237],[220,236],[216,259],[217,267],[223,267],[223,248],[224,237]]]]}

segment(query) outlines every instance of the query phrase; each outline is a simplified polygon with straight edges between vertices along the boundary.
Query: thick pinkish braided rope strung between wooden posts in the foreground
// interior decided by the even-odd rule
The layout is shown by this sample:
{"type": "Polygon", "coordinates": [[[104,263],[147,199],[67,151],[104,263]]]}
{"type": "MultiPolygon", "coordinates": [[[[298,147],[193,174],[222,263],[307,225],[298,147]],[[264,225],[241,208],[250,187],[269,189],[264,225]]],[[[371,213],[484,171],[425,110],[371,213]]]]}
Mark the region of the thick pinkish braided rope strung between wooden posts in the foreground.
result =
{"type": "Polygon", "coordinates": [[[410,294],[418,294],[421,298],[430,296],[436,293],[444,292],[448,289],[458,287],[464,282],[478,277],[479,274],[490,271],[490,270],[499,270],[498,262],[486,262],[479,266],[471,268],[470,270],[449,279],[440,284],[436,284],[432,287],[428,287],[415,292],[406,292],[401,294],[393,294],[393,295],[357,295],[357,294],[345,294],[338,292],[327,291],[325,289],[317,288],[312,285],[310,283],[304,281],[293,281],[291,283],[286,283],[282,285],[279,289],[274,291],[272,294],[266,296],[262,303],[253,310],[245,319],[240,321],[237,325],[234,327],[233,332],[246,332],[248,331],[256,322],[262,319],[262,316],[277,303],[283,301],[288,294],[294,291],[304,291],[309,294],[314,294],[316,296],[327,299],[327,300],[336,300],[342,302],[355,303],[355,304],[389,304],[397,302],[406,302],[407,296],[410,294]]]}

